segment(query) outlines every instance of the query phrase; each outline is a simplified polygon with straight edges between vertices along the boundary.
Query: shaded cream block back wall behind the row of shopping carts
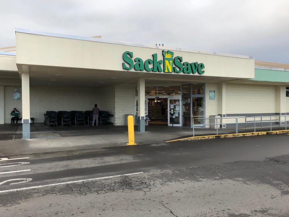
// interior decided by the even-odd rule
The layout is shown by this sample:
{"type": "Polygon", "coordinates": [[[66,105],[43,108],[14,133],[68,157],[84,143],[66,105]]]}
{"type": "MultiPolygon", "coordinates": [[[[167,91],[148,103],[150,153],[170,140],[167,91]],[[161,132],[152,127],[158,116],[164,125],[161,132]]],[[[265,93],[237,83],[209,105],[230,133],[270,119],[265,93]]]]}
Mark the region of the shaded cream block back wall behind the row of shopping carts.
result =
{"type": "MultiPolygon", "coordinates": [[[[13,100],[13,92],[14,86],[5,86],[5,123],[10,123],[9,114],[14,107],[22,114],[22,102],[13,100]]],[[[34,118],[34,122],[42,122],[43,114],[48,110],[92,110],[98,102],[97,88],[30,86],[30,117],[34,118]]]]}

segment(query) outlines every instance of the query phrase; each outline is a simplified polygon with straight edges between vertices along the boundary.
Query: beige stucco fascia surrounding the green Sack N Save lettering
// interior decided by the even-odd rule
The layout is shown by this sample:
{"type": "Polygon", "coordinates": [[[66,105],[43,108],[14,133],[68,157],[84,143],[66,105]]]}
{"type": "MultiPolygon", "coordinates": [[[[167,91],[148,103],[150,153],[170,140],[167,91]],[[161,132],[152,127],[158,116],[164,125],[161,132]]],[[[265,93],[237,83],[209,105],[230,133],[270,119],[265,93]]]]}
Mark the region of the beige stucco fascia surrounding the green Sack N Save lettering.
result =
{"type": "MultiPolygon", "coordinates": [[[[16,62],[29,65],[126,71],[122,69],[122,55],[125,51],[133,52],[133,58],[139,57],[146,60],[152,58],[152,54],[157,53],[158,60],[163,59],[163,48],[127,46],[20,32],[16,32],[16,46],[16,62]]],[[[174,56],[182,56],[183,61],[204,63],[205,73],[202,76],[254,78],[254,59],[173,52],[174,56]]],[[[172,73],[172,75],[179,78],[200,76],[183,73],[172,73]]]]}

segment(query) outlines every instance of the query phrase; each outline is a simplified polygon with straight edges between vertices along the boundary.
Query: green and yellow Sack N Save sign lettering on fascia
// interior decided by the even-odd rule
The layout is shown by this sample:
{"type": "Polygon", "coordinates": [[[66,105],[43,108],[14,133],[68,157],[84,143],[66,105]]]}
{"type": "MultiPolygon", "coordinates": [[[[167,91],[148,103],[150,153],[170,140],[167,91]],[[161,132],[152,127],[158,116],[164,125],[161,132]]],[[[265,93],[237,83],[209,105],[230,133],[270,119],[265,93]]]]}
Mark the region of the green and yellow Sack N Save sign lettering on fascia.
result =
{"type": "Polygon", "coordinates": [[[157,54],[152,55],[152,59],[143,61],[141,58],[133,58],[132,52],[126,51],[123,53],[123,69],[136,71],[153,71],[153,72],[175,72],[185,74],[204,74],[204,63],[198,62],[182,62],[183,58],[176,56],[173,58],[174,52],[163,50],[163,60],[157,61],[157,54]],[[163,68],[162,68],[163,65],[163,68]]]}

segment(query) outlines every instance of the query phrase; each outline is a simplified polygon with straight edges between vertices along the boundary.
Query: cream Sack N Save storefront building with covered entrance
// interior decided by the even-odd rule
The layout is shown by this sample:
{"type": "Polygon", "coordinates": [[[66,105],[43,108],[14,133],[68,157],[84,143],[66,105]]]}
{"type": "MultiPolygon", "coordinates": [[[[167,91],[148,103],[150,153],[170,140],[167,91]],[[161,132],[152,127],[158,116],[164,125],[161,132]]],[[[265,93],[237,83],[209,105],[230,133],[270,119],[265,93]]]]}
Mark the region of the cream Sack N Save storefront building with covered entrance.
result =
{"type": "MultiPolygon", "coordinates": [[[[16,107],[23,138],[46,111],[109,111],[110,124],[135,115],[151,123],[204,125],[212,115],[289,112],[288,64],[253,57],[16,29],[16,47],[0,49],[0,124],[16,107]],[[287,94],[286,94],[287,91],[287,94]],[[142,102],[142,103],[139,103],[142,102]]],[[[221,127],[229,124],[222,121],[221,127]]]]}

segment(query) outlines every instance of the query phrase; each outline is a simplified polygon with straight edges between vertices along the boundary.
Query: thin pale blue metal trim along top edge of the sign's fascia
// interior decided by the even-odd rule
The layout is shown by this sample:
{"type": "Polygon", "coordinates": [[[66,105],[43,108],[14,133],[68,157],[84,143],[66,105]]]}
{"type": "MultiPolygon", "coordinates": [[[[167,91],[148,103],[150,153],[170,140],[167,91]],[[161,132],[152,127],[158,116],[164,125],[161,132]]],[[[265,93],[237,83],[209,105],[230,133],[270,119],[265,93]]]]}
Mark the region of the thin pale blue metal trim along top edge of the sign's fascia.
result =
{"type": "Polygon", "coordinates": [[[105,39],[85,37],[85,36],[66,35],[66,34],[60,34],[60,33],[49,33],[49,32],[42,32],[42,31],[37,31],[37,30],[29,30],[29,29],[21,29],[21,28],[15,28],[15,32],[28,33],[28,34],[34,34],[34,35],[52,36],[52,37],[59,37],[59,38],[78,39],[78,40],[84,40],[84,41],[95,41],[95,42],[103,42],[103,43],[110,43],[110,44],[135,46],[135,47],[184,51],[184,52],[191,52],[191,53],[209,54],[209,55],[217,55],[217,56],[228,56],[228,57],[236,57],[236,58],[244,58],[244,59],[255,59],[252,56],[245,56],[245,55],[226,54],[226,53],[208,52],[208,51],[196,51],[196,50],[191,50],[191,49],[181,49],[181,48],[173,48],[173,47],[167,47],[167,46],[146,45],[146,44],[139,44],[139,43],[132,43],[132,42],[105,40],[105,39]]]}

